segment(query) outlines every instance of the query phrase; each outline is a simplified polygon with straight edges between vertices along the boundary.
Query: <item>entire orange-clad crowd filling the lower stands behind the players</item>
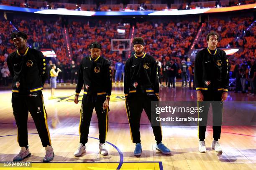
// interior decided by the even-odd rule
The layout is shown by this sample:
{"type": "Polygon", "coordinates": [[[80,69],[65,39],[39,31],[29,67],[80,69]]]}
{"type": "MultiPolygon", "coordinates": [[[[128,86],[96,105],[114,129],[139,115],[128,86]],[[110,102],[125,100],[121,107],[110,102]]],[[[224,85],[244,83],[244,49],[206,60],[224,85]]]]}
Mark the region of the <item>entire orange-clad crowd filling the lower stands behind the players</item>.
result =
{"type": "MultiPolygon", "coordinates": [[[[250,27],[254,22],[253,18],[231,18],[229,21],[213,19],[205,23],[200,38],[195,48],[207,47],[205,37],[208,32],[216,31],[220,34],[218,47],[236,47],[239,52],[229,57],[230,77],[234,79],[234,90],[250,91],[250,95],[255,94],[255,80],[252,80],[255,70],[256,41],[255,27],[250,27]],[[254,65],[254,66],[253,66],[254,65]]],[[[88,45],[97,40],[102,45],[102,56],[110,60],[113,68],[113,78],[115,77],[115,64],[121,58],[116,51],[111,51],[111,39],[116,39],[117,28],[120,24],[97,21],[95,23],[72,22],[68,25],[69,40],[73,58],[67,56],[66,42],[63,37],[61,23],[46,22],[44,20],[7,20],[0,22],[0,70],[1,84],[7,85],[10,80],[10,73],[5,67],[8,54],[15,50],[13,42],[10,40],[10,33],[13,31],[24,31],[28,34],[28,46],[36,49],[50,48],[56,52],[56,66],[62,72],[59,74],[58,82],[73,82],[77,76],[79,62],[83,57],[90,55],[88,45]],[[16,30],[17,29],[17,30],[16,30]],[[71,60],[73,60],[71,62],[71,60]],[[72,81],[73,80],[73,81],[72,81]]],[[[175,80],[182,78],[182,85],[187,86],[187,82],[193,79],[193,61],[189,61],[187,56],[200,23],[192,21],[180,22],[143,22],[136,23],[135,35],[133,37],[143,37],[145,40],[145,51],[154,56],[159,65],[159,77],[161,84],[175,87],[175,80]],[[169,71],[173,68],[175,71],[169,71]]],[[[130,37],[130,25],[125,25],[125,38],[130,37]]],[[[50,64],[49,66],[50,67],[50,64]]],[[[74,81],[75,82],[75,81],[74,81]]],[[[189,83],[189,84],[190,84],[189,83]]],[[[231,84],[232,86],[232,84],[231,84]]],[[[192,89],[192,85],[189,87],[192,89]]]]}

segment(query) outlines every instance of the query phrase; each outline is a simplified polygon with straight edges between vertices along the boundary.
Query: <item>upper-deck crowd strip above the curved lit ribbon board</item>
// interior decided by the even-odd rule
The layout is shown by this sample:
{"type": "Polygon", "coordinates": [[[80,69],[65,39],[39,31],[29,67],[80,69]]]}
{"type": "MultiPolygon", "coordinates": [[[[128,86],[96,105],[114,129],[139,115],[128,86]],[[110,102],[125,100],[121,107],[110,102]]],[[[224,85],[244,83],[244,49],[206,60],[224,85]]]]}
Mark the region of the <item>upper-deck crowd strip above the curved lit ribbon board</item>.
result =
{"type": "Polygon", "coordinates": [[[28,7],[35,9],[57,9],[66,8],[68,10],[87,10],[87,11],[123,11],[123,10],[189,10],[195,8],[208,8],[208,7],[228,7],[236,5],[253,4],[255,0],[213,0],[205,2],[194,2],[189,1],[182,4],[105,4],[91,3],[91,4],[80,4],[80,3],[61,3],[61,2],[45,2],[45,1],[33,1],[33,0],[0,0],[0,5],[28,7]],[[131,7],[132,6],[132,7],[131,7]]]}

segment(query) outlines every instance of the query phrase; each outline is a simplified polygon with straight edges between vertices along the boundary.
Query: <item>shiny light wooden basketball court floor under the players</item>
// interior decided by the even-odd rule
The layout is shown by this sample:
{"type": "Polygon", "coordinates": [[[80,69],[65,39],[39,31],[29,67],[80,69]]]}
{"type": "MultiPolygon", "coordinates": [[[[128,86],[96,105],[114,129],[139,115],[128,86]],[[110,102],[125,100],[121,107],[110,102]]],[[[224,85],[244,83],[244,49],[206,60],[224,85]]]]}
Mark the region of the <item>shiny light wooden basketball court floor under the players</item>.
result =
{"type": "MultiPolygon", "coordinates": [[[[79,144],[79,104],[73,102],[74,89],[56,89],[57,99],[49,99],[50,90],[43,90],[44,102],[48,114],[48,126],[55,157],[51,163],[40,163],[45,155],[35,125],[28,117],[28,142],[31,157],[23,160],[31,162],[35,170],[255,170],[256,169],[256,127],[224,126],[220,144],[223,153],[211,149],[212,128],[206,132],[207,152],[198,152],[197,126],[163,126],[163,143],[172,151],[163,155],[155,149],[155,140],[150,122],[143,112],[141,117],[142,155],[135,157],[135,144],[131,142],[128,119],[125,111],[125,97],[122,87],[115,87],[110,99],[109,131],[107,144],[109,154],[98,153],[98,124],[94,113],[90,125],[89,141],[86,153],[77,158],[73,155],[79,144]]],[[[82,93],[81,93],[82,94],[82,93]]],[[[0,162],[10,162],[19,152],[17,128],[11,106],[11,90],[0,91],[0,162]]],[[[170,90],[161,87],[160,100],[190,101],[196,100],[194,90],[177,87],[170,90]]],[[[230,92],[228,100],[254,101],[255,98],[230,92]]],[[[82,100],[82,96],[79,98],[82,100]]],[[[234,107],[236,107],[234,105],[234,107]]],[[[256,110],[256,109],[255,109],[256,110]]],[[[1,170],[10,170],[1,163],[1,170]]],[[[25,169],[25,168],[17,168],[25,169]]]]}

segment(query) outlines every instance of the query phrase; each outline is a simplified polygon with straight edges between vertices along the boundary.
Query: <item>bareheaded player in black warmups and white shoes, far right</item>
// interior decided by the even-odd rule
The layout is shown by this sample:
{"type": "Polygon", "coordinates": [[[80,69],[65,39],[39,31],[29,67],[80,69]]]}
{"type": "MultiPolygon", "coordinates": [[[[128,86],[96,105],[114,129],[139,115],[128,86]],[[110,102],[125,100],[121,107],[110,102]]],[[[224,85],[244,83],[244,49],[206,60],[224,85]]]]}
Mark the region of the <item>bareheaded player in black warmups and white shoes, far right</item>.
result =
{"type": "Polygon", "coordinates": [[[207,35],[208,47],[197,53],[195,59],[195,86],[197,90],[198,107],[203,108],[198,116],[202,121],[198,122],[199,151],[206,152],[205,131],[207,115],[212,103],[213,114],[213,141],[212,149],[222,152],[220,147],[220,131],[223,115],[223,102],[228,97],[229,72],[228,58],[223,50],[217,48],[219,35],[210,32],[207,35]]]}

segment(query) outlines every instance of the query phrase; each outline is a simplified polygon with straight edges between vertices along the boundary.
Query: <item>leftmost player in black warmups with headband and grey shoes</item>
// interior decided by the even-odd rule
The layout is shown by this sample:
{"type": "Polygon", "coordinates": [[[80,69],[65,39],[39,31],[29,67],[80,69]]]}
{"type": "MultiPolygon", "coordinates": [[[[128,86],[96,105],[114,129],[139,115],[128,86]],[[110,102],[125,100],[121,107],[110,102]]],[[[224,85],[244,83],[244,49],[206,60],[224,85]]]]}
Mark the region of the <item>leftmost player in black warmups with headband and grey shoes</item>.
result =
{"type": "Polygon", "coordinates": [[[24,32],[12,33],[11,39],[17,50],[7,57],[8,67],[13,77],[13,115],[18,129],[18,143],[21,147],[20,153],[13,158],[13,161],[21,161],[31,156],[27,128],[29,111],[46,150],[43,162],[49,162],[53,160],[54,152],[41,92],[47,79],[46,62],[42,52],[26,46],[27,37],[24,32]]]}

